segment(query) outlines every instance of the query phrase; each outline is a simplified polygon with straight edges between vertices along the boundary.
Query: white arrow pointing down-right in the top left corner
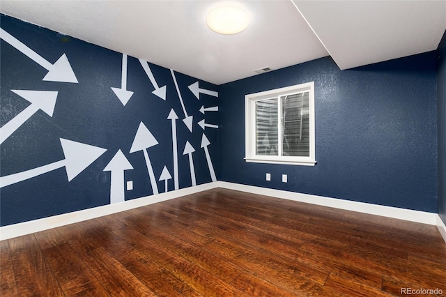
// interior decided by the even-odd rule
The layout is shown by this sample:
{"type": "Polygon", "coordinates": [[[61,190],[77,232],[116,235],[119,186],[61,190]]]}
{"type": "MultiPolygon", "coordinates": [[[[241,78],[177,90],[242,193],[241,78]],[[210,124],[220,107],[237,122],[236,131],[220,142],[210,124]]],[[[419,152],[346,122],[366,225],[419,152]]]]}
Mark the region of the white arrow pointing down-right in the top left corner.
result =
{"type": "Polygon", "coordinates": [[[31,50],[29,47],[24,45],[20,40],[17,40],[10,33],[0,28],[0,38],[5,40],[7,43],[15,47],[17,50],[22,52],[29,59],[35,61],[40,66],[48,70],[47,75],[43,77],[42,80],[50,82],[75,82],[77,83],[77,78],[75,73],[73,73],[70,62],[66,54],[63,54],[59,60],[54,64],[49,63],[42,56],[31,50]]]}

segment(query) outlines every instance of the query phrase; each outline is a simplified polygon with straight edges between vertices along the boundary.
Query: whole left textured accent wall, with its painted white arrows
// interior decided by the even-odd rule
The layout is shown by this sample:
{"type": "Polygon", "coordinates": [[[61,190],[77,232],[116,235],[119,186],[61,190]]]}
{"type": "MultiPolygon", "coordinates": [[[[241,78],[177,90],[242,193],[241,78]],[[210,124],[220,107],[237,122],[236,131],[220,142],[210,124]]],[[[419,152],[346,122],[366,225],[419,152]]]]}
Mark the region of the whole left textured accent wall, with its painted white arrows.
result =
{"type": "Polygon", "coordinates": [[[197,184],[215,179],[208,160],[217,165],[217,128],[203,130],[199,123],[218,124],[217,112],[200,112],[217,106],[218,98],[201,94],[198,100],[188,86],[217,86],[5,15],[1,29],[1,225],[164,192],[169,174],[169,191],[175,180],[186,188],[193,177],[197,184]],[[68,67],[51,70],[56,61],[68,67]],[[112,87],[123,86],[134,93],[121,102],[112,87]],[[172,109],[176,120],[167,119],[172,109]],[[192,116],[189,128],[185,114],[192,116]],[[210,144],[202,142],[203,132],[210,144]],[[169,174],[162,175],[164,166],[169,174]]]}

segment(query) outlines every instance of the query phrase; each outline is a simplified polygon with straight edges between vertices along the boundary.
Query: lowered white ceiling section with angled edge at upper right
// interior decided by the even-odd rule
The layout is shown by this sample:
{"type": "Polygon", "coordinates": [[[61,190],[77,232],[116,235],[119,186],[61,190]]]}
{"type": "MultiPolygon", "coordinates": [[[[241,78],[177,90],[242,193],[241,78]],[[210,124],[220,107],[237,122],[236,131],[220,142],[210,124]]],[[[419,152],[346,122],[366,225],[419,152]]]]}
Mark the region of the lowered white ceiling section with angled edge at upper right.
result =
{"type": "Polygon", "coordinates": [[[436,50],[446,1],[296,1],[341,69],[436,50]]]}

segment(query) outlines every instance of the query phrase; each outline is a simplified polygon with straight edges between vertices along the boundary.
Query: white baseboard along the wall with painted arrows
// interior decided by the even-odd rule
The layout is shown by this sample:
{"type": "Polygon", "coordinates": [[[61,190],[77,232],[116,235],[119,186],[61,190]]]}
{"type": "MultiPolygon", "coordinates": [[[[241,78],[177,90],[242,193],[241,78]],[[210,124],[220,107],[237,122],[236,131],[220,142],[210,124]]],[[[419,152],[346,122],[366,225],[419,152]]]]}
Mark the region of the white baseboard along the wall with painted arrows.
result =
{"type": "Polygon", "coordinates": [[[118,213],[120,211],[128,211],[132,208],[146,206],[148,204],[154,204],[185,195],[210,190],[213,188],[217,188],[217,186],[217,182],[205,183],[203,185],[197,185],[194,187],[161,193],[153,196],[141,197],[121,203],[88,208],[82,211],[74,211],[72,213],[63,213],[61,215],[54,215],[52,217],[32,220],[28,222],[21,222],[18,224],[10,224],[8,226],[0,227],[0,240],[3,241],[5,239],[14,238],[17,236],[65,226],[66,224],[74,224],[76,222],[82,222],[84,220],[99,218],[103,215],[111,215],[112,213],[118,213]]]}

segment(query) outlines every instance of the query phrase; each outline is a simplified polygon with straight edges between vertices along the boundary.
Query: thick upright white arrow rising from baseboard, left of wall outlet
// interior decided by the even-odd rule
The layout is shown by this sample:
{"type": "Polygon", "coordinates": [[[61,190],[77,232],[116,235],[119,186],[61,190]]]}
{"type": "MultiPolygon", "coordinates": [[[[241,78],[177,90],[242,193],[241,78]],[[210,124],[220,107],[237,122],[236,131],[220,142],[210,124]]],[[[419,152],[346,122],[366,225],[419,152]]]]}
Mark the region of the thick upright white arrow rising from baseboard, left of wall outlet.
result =
{"type": "Polygon", "coordinates": [[[133,169],[133,167],[121,150],[114,155],[109,164],[104,168],[105,172],[112,172],[110,204],[125,201],[124,170],[130,169],[133,169]]]}

